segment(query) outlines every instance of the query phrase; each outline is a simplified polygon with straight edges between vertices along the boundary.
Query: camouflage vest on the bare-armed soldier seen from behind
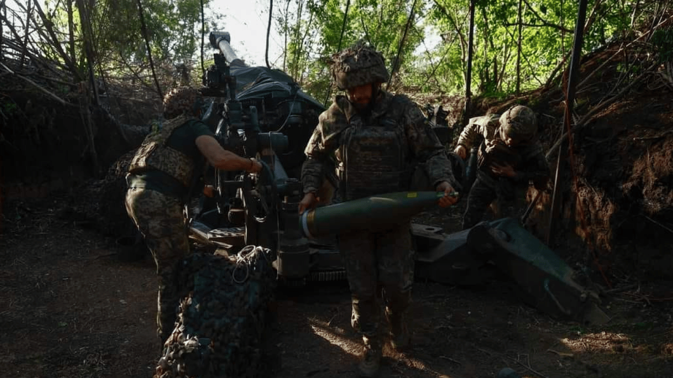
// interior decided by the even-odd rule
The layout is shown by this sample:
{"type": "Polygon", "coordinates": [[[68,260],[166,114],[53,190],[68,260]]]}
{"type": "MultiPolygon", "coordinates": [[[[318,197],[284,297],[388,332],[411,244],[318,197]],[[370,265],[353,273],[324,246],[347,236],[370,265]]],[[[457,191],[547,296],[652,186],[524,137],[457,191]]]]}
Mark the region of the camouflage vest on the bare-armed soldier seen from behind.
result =
{"type": "Polygon", "coordinates": [[[193,117],[182,115],[164,122],[164,126],[156,133],[145,137],[143,144],[129,164],[132,174],[158,169],[189,187],[194,173],[194,159],[168,146],[168,139],[174,130],[193,117]]]}

